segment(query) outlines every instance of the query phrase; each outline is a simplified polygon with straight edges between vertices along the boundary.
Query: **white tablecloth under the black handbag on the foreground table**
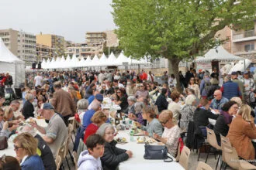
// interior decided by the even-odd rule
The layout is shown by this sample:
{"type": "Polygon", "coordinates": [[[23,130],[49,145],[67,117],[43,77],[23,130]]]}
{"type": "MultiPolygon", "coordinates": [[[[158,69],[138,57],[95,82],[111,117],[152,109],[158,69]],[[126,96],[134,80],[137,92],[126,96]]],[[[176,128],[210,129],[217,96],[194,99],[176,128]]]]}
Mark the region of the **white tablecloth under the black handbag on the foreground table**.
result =
{"type": "MultiPolygon", "coordinates": [[[[126,138],[128,143],[123,145],[116,145],[118,148],[123,148],[133,152],[133,157],[129,158],[125,162],[119,164],[119,170],[157,170],[157,169],[184,169],[178,162],[164,162],[163,160],[147,160],[144,159],[144,144],[137,144],[136,139],[138,137],[133,137],[133,141],[130,141],[129,131],[119,131],[116,138],[126,138]]],[[[169,155],[170,156],[170,155],[169,155]]]]}

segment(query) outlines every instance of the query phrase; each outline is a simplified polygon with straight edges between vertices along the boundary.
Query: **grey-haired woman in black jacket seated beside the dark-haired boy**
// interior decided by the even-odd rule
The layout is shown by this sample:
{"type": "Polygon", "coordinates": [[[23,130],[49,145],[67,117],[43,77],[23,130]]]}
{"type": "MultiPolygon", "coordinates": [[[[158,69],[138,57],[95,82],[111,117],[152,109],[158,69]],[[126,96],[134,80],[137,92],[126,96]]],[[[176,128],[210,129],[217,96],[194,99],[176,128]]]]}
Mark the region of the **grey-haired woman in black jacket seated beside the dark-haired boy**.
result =
{"type": "Polygon", "coordinates": [[[126,151],[121,148],[116,148],[114,139],[115,129],[112,124],[102,124],[97,133],[105,139],[104,154],[101,158],[102,168],[104,170],[116,169],[120,162],[126,161],[133,156],[132,151],[126,151]]]}

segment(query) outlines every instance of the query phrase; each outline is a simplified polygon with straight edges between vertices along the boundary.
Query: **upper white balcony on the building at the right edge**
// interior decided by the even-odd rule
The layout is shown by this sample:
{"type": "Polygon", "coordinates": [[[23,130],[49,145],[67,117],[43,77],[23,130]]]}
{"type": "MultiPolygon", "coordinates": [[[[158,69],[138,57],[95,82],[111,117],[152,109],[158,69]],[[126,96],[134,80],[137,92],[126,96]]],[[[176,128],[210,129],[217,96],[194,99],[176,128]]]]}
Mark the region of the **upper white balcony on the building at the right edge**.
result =
{"type": "Polygon", "coordinates": [[[254,29],[244,32],[235,32],[233,34],[233,42],[246,42],[253,40],[256,40],[256,34],[254,29]]]}

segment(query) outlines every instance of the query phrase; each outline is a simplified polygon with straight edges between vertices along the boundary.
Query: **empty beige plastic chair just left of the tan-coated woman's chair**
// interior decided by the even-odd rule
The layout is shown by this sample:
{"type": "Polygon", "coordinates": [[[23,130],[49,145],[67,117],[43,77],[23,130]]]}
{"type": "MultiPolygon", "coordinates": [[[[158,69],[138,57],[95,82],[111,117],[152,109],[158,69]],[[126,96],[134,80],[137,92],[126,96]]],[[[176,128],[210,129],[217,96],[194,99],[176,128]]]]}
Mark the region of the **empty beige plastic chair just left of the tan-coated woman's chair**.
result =
{"type": "MultiPolygon", "coordinates": [[[[206,128],[206,131],[207,131],[207,141],[209,142],[209,145],[211,145],[213,148],[216,148],[217,151],[222,151],[221,147],[218,145],[214,131],[209,128],[206,128]]],[[[215,155],[215,153],[214,153],[214,155],[215,155]]],[[[219,164],[220,155],[221,154],[219,154],[219,156],[218,156],[216,168],[218,167],[218,164],[219,164]]],[[[209,152],[207,153],[207,156],[206,156],[206,162],[207,162],[208,156],[209,156],[209,152]]]]}

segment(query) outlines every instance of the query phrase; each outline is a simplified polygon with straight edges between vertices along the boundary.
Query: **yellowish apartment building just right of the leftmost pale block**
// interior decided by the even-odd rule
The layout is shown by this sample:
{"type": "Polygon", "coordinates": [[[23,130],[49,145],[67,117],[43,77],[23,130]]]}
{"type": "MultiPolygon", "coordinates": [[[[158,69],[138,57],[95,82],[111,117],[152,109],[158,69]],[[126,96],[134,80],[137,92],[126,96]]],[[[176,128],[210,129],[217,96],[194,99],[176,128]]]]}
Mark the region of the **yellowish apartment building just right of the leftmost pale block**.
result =
{"type": "Polygon", "coordinates": [[[50,57],[64,55],[65,40],[63,36],[57,36],[52,34],[36,35],[36,44],[50,47],[50,57]]]}

